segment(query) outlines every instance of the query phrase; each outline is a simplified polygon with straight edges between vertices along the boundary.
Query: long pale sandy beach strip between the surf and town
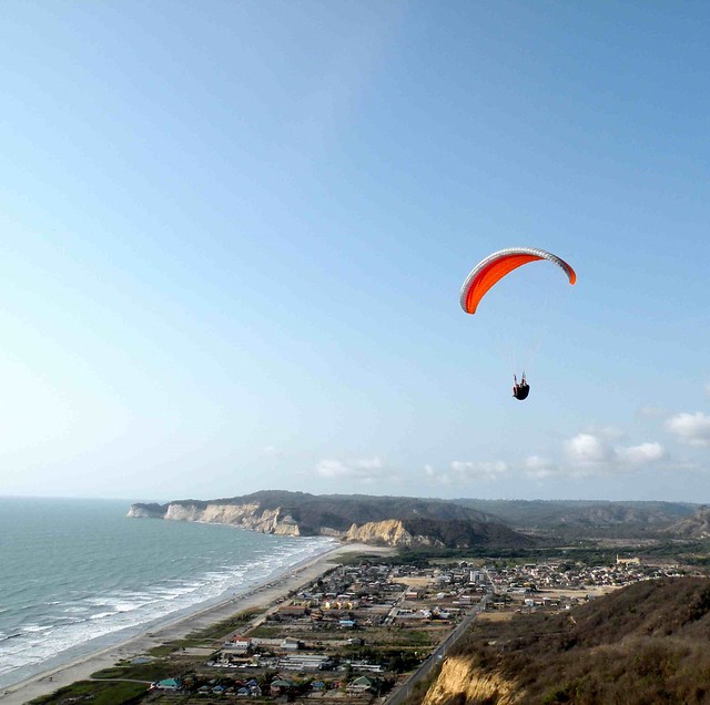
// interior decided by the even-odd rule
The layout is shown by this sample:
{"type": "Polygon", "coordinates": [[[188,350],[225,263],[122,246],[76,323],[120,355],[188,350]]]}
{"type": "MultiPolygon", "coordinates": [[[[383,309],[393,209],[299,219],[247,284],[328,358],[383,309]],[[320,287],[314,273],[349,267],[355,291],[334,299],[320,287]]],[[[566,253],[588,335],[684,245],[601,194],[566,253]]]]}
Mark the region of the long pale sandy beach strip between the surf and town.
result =
{"type": "Polygon", "coordinates": [[[154,646],[181,638],[195,630],[204,629],[237,612],[271,605],[337,565],[338,556],[344,553],[386,554],[390,552],[392,549],[381,549],[364,544],[348,543],[337,545],[311,561],[294,566],[282,578],[244,595],[230,597],[205,610],[154,625],[150,631],[132,636],[120,644],[88,654],[21,683],[10,685],[0,693],[0,701],[3,705],[23,705],[40,695],[52,693],[75,681],[87,680],[92,673],[113,666],[122,658],[131,658],[143,654],[154,646]]]}

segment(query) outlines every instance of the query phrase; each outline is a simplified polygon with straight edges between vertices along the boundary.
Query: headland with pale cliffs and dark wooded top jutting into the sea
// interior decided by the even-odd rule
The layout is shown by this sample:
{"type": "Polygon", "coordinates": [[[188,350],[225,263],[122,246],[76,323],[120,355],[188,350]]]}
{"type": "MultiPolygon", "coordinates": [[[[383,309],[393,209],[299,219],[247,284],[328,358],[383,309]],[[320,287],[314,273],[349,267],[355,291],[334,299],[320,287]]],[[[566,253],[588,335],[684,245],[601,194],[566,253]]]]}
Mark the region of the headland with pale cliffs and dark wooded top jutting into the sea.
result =
{"type": "Polygon", "coordinates": [[[521,546],[530,540],[483,512],[445,500],[255,492],[229,500],[133,504],[136,519],[199,521],[290,537],[388,546],[521,546]]]}

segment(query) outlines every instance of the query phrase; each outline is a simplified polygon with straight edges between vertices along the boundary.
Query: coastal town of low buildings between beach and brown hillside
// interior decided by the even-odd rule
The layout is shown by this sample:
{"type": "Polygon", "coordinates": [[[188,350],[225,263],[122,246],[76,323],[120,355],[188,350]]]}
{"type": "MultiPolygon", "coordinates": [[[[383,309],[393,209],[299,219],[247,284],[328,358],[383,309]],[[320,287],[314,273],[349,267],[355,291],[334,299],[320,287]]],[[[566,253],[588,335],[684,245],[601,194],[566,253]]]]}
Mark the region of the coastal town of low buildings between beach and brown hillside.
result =
{"type": "Polygon", "coordinates": [[[166,644],[103,675],[163,673],[148,685],[146,703],[394,703],[405,684],[425,682],[415,676],[432,672],[473,619],[570,610],[633,582],[682,574],[638,558],[597,566],[365,560],[242,615],[222,638],[166,644]]]}

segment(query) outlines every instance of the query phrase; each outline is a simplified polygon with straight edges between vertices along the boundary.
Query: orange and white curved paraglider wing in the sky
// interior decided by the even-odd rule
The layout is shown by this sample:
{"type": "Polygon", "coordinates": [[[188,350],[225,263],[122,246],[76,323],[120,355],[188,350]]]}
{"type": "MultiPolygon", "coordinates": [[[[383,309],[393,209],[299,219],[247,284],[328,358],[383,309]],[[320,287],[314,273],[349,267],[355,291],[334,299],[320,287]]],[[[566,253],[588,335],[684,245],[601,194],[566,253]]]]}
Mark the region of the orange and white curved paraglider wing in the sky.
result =
{"type": "Polygon", "coordinates": [[[549,259],[549,262],[555,263],[565,272],[570,284],[577,282],[575,270],[557,255],[534,247],[508,247],[507,249],[495,252],[483,262],[479,262],[466,277],[466,282],[462,287],[462,308],[467,314],[475,314],[480,299],[503,277],[514,269],[537,259],[549,259]]]}

